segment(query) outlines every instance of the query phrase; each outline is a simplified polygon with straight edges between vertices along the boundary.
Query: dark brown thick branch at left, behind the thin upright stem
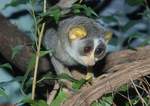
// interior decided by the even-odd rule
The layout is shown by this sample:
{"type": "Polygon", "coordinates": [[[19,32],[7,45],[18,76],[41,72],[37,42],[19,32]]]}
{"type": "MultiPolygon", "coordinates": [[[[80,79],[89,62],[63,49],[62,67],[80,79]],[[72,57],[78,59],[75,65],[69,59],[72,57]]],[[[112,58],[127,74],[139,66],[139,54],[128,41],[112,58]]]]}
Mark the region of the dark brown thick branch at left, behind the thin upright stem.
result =
{"type": "MultiPolygon", "coordinates": [[[[12,25],[5,17],[0,14],[0,53],[11,63],[15,64],[19,69],[26,71],[29,60],[32,57],[32,41],[17,27],[12,25]],[[23,48],[14,59],[11,59],[12,48],[22,45],[23,48]]],[[[49,63],[46,58],[42,58],[40,62],[40,70],[49,69],[49,63]]]]}

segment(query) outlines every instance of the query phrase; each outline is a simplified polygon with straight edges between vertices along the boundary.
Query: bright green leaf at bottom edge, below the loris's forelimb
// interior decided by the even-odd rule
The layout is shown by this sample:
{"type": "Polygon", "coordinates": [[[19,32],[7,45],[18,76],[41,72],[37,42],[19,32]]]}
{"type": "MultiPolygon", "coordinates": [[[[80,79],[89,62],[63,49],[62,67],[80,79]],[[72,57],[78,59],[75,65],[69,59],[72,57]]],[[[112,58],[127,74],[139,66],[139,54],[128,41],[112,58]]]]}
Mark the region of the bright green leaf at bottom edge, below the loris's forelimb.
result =
{"type": "Polygon", "coordinates": [[[60,89],[56,98],[52,101],[50,106],[61,106],[61,103],[68,98],[67,94],[60,89]]]}

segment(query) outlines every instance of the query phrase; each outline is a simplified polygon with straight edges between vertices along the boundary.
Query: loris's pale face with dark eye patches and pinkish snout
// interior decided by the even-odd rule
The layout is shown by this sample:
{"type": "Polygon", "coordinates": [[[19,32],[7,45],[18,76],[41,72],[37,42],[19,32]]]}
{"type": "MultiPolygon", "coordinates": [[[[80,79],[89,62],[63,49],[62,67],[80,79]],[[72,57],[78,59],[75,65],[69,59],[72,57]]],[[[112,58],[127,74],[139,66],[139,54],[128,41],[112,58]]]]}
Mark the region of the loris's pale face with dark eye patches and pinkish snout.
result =
{"type": "Polygon", "coordinates": [[[87,38],[72,43],[78,62],[85,66],[93,66],[101,60],[106,53],[106,44],[102,38],[87,38]]]}

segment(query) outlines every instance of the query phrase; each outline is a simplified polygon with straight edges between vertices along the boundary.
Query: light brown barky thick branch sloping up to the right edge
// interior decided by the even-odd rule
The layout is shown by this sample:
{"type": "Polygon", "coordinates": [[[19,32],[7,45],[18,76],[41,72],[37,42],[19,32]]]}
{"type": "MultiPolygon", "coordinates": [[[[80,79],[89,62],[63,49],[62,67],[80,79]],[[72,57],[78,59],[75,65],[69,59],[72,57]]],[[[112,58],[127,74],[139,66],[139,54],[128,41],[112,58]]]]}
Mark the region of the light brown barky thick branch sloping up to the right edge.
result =
{"type": "Polygon", "coordinates": [[[92,86],[82,88],[63,106],[89,106],[103,94],[150,74],[150,46],[139,48],[138,51],[123,50],[108,55],[105,69],[112,73],[104,78],[96,78],[92,86]]]}

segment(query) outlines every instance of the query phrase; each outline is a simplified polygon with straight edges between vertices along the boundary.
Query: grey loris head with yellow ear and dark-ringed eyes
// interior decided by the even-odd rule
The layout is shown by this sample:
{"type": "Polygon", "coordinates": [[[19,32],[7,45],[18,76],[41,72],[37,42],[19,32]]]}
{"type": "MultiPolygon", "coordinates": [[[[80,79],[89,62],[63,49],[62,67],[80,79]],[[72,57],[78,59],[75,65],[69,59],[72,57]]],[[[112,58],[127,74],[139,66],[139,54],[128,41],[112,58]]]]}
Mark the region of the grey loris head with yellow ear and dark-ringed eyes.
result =
{"type": "Polygon", "coordinates": [[[60,23],[60,28],[64,49],[78,63],[93,66],[105,56],[106,32],[93,19],[77,16],[60,23]]]}

